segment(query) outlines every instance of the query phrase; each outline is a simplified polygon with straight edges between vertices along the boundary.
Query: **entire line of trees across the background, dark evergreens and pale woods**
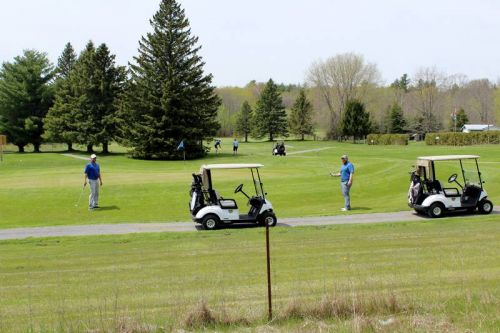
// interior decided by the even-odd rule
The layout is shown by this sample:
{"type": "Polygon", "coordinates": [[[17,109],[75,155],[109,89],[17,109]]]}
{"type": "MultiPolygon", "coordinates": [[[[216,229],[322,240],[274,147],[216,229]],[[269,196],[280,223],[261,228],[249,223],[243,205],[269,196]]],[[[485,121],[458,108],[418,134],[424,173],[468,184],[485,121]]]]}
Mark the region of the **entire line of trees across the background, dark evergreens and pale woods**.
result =
{"type": "Polygon", "coordinates": [[[500,110],[500,90],[487,79],[424,68],[386,85],[375,64],[353,53],[313,62],[301,85],[269,80],[215,88],[180,5],[161,1],[150,23],[128,66],[92,41],[79,54],[66,44],[56,66],[36,50],[2,64],[0,132],[20,152],[59,142],[107,153],[118,142],[135,158],[175,159],[180,142],[194,158],[215,135],[246,141],[318,131],[329,139],[425,134],[468,121],[493,124],[500,110]]]}

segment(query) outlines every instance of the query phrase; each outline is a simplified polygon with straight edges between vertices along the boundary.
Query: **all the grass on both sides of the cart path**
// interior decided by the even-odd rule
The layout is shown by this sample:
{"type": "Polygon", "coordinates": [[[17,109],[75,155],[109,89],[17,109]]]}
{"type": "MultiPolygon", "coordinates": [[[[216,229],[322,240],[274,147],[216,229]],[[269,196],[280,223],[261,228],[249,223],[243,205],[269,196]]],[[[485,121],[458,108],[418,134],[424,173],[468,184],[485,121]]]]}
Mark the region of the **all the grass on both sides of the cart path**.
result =
{"type": "MultiPolygon", "coordinates": [[[[99,157],[103,208],[94,212],[86,198],[75,207],[85,161],[58,152],[9,153],[0,166],[0,226],[186,221],[191,173],[204,163],[233,162],[265,165],[263,181],[278,217],[335,215],[342,198],[338,179],[328,173],[344,153],[356,166],[351,214],[408,209],[408,171],[421,155],[481,155],[486,189],[500,202],[496,146],[289,145],[293,154],[285,158],[272,157],[269,143],[241,144],[236,157],[188,162],[99,157]]],[[[442,177],[456,172],[445,168],[442,177]]],[[[229,172],[215,181],[223,196],[246,207],[232,191],[241,182],[251,189],[248,174],[229,172]]],[[[498,214],[273,228],[277,320],[267,323],[261,228],[0,241],[0,332],[196,331],[201,328],[187,327],[185,319],[201,301],[222,321],[237,322],[209,326],[216,331],[496,332],[499,244],[498,214]],[[343,314],[316,318],[293,310],[327,298],[347,304],[343,314]],[[387,299],[392,310],[380,305],[387,299]],[[351,307],[367,300],[376,305],[351,307]]]]}

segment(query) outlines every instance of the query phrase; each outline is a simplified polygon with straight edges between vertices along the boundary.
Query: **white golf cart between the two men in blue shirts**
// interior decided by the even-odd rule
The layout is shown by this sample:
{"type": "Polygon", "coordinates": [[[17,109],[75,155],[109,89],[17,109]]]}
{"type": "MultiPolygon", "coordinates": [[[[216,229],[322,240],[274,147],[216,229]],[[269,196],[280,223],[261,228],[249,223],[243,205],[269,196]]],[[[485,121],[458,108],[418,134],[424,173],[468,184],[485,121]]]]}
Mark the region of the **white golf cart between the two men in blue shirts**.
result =
{"type": "Polygon", "coordinates": [[[209,164],[203,165],[199,174],[193,173],[191,184],[191,201],[189,210],[196,223],[200,223],[207,230],[232,223],[255,223],[258,225],[275,226],[276,215],[273,206],[266,199],[260,179],[259,168],[262,164],[209,164]],[[248,199],[250,209],[247,214],[240,215],[238,205],[234,199],[222,198],[213,188],[212,171],[228,169],[250,169],[255,195],[249,196],[243,191],[243,184],[234,189],[234,193],[241,192],[248,199]]]}

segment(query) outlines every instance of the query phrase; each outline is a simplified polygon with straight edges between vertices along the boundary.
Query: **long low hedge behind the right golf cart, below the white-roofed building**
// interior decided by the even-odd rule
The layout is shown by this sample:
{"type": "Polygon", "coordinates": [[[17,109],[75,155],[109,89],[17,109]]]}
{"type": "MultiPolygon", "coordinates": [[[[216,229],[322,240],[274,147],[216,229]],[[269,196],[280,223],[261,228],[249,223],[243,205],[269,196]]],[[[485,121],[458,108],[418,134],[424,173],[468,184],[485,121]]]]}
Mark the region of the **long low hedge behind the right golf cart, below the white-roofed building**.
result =
{"type": "Polygon", "coordinates": [[[425,143],[430,146],[470,146],[481,144],[500,144],[500,131],[485,131],[473,133],[427,133],[427,135],[425,136],[425,143]]]}

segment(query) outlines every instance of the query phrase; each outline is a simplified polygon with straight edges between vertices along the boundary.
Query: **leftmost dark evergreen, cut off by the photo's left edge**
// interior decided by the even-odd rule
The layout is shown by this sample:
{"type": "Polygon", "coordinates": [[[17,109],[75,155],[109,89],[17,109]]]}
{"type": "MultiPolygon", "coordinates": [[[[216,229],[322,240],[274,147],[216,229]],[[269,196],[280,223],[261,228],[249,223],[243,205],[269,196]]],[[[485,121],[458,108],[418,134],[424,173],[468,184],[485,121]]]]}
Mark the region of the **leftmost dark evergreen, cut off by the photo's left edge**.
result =
{"type": "Polygon", "coordinates": [[[46,54],[24,51],[0,70],[0,128],[19,152],[40,151],[43,118],[53,103],[53,67],[46,54]]]}

